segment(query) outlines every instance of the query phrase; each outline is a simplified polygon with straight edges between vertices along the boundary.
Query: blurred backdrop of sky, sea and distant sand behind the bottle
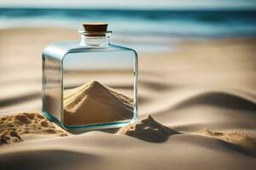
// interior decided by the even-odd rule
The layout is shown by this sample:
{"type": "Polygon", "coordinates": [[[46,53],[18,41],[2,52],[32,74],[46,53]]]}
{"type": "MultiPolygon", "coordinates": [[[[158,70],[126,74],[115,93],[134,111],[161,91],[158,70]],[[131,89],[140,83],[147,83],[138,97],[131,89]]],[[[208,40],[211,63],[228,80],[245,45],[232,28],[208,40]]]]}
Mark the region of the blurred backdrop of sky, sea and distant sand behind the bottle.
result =
{"type": "Polygon", "coordinates": [[[137,50],[143,114],[196,90],[254,99],[255,16],[254,0],[0,0],[0,113],[40,111],[44,47],[95,21],[137,50]]]}

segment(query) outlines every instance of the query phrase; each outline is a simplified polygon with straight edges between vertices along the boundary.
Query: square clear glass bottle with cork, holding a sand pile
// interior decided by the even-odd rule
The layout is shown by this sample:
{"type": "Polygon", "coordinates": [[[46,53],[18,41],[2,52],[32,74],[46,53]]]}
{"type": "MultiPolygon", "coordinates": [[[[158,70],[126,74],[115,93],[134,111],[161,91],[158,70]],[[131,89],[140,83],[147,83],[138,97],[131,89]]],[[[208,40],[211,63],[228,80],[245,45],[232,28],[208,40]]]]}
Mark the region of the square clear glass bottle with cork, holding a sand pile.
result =
{"type": "Polygon", "coordinates": [[[106,23],[85,23],[81,41],[43,51],[43,113],[65,129],[137,121],[137,52],[109,43],[106,23]]]}

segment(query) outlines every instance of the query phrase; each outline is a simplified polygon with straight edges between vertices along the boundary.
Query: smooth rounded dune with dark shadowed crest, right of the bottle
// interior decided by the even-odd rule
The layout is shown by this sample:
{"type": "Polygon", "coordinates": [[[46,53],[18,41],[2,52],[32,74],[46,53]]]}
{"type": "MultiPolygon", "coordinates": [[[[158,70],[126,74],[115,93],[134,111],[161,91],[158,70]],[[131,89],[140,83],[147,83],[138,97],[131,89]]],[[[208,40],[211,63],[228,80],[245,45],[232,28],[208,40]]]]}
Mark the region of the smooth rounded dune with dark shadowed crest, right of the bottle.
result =
{"type": "Polygon", "coordinates": [[[166,105],[161,108],[156,104],[159,108],[152,112],[156,120],[188,132],[205,127],[219,130],[256,127],[253,121],[256,117],[254,99],[244,94],[192,90],[190,94],[179,93],[179,95],[176,99],[169,98],[170,101],[166,101],[166,105]],[[169,120],[172,122],[170,123],[169,120]]]}

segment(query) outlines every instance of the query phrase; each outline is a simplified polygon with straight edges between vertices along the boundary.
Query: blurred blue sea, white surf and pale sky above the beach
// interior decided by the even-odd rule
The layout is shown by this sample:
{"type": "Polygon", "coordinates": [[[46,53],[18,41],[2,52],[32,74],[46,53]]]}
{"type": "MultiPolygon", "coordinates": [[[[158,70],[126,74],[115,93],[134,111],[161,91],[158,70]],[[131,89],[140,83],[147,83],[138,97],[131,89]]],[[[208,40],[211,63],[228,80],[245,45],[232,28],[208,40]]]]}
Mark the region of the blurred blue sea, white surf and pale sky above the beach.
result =
{"type": "Polygon", "coordinates": [[[254,36],[255,8],[254,0],[1,0],[0,29],[79,30],[84,21],[103,21],[114,42],[158,51],[192,38],[254,36]]]}

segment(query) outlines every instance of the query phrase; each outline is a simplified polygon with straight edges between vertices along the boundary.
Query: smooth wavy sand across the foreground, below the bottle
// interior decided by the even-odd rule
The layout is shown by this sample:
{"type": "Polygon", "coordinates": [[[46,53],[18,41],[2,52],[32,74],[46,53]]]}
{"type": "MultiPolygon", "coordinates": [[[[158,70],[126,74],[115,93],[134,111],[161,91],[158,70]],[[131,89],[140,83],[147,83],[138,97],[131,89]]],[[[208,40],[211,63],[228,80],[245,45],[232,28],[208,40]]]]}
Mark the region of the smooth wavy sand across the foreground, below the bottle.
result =
{"type": "Polygon", "coordinates": [[[67,138],[25,141],[11,148],[2,147],[1,154],[0,167],[12,169],[34,169],[37,166],[40,169],[83,169],[89,166],[91,169],[150,170],[155,169],[156,165],[161,168],[173,165],[175,169],[191,169],[191,166],[216,169],[220,165],[227,169],[241,169],[244,166],[253,169],[255,162],[247,150],[214,136],[206,137],[203,133],[178,133],[164,143],[152,144],[123,134],[90,132],[67,138]],[[128,160],[125,159],[128,157],[128,160]],[[196,161],[195,158],[200,160],[196,161]],[[203,165],[198,165],[200,162],[203,165]]]}

